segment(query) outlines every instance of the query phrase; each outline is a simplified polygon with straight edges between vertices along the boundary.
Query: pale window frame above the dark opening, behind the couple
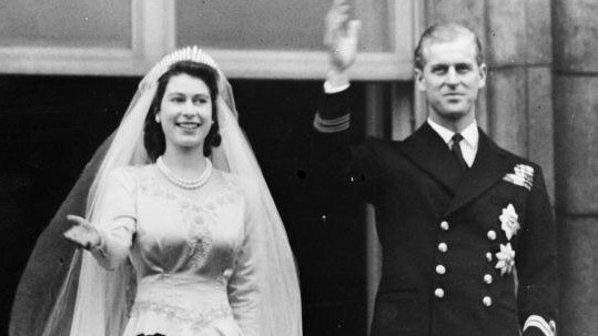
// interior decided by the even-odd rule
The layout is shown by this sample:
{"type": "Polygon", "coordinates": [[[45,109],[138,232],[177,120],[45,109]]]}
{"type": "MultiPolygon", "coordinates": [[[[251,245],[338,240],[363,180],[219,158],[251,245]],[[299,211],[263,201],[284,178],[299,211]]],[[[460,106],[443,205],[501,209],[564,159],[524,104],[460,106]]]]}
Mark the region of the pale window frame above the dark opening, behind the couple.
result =
{"type": "MultiPolygon", "coordinates": [[[[129,49],[0,47],[0,73],[62,75],[143,75],[176,47],[175,1],[130,0],[129,49]]],[[[386,0],[392,50],[362,52],[351,77],[366,81],[413,79],[413,49],[423,21],[417,0],[386,0]]],[[[210,49],[224,73],[235,79],[322,79],[325,51],[210,49]]]]}

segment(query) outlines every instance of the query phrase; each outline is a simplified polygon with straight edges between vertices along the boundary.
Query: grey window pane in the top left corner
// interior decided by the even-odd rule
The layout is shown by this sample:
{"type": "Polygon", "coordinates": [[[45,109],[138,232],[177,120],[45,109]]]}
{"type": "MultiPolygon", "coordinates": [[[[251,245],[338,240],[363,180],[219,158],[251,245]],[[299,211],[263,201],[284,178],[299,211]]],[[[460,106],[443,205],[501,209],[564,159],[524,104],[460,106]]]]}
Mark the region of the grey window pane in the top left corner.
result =
{"type": "Polygon", "coordinates": [[[131,48],[131,1],[0,0],[1,47],[131,48]]]}

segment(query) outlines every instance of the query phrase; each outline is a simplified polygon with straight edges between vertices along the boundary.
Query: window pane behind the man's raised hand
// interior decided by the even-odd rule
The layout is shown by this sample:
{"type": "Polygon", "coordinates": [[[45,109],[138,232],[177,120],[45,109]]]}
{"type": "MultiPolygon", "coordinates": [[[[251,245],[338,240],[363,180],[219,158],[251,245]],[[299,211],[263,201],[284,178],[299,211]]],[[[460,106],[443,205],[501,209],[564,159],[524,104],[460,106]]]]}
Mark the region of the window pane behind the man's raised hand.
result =
{"type": "MultiPolygon", "coordinates": [[[[364,51],[391,51],[388,1],[353,0],[364,51]]],[[[227,0],[176,2],[178,44],[214,49],[322,50],[331,1],[227,0]]]]}

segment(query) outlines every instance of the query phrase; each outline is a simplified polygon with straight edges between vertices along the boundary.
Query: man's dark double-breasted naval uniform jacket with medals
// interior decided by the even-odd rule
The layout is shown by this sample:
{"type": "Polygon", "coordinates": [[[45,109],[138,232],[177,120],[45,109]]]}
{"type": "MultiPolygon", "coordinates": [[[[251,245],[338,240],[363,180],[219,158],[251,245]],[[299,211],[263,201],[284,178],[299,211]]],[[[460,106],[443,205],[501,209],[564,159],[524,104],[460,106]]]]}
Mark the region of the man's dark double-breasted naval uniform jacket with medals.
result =
{"type": "MultiPolygon", "coordinates": [[[[327,94],[318,118],[339,120],[346,95],[327,94]]],[[[375,205],[383,269],[372,335],[516,336],[529,316],[556,320],[555,223],[538,165],[482,131],[464,174],[427,123],[356,147],[347,133],[315,132],[312,157],[325,171],[318,183],[332,172],[375,205]]]]}

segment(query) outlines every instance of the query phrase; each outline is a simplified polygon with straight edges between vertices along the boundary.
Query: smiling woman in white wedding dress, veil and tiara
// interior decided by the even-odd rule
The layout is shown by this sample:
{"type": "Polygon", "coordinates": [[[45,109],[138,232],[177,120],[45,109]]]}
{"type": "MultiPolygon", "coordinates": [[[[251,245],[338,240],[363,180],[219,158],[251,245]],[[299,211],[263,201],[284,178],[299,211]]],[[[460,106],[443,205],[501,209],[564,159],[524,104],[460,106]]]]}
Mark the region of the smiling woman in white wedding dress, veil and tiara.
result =
{"type": "Polygon", "coordinates": [[[85,215],[47,230],[68,227],[83,252],[52,272],[38,244],[11,335],[301,335],[288,241],[235,116],[230,84],[197,48],[154,65],[84,173],[85,215]],[[61,285],[39,295],[48,275],[61,285]]]}

